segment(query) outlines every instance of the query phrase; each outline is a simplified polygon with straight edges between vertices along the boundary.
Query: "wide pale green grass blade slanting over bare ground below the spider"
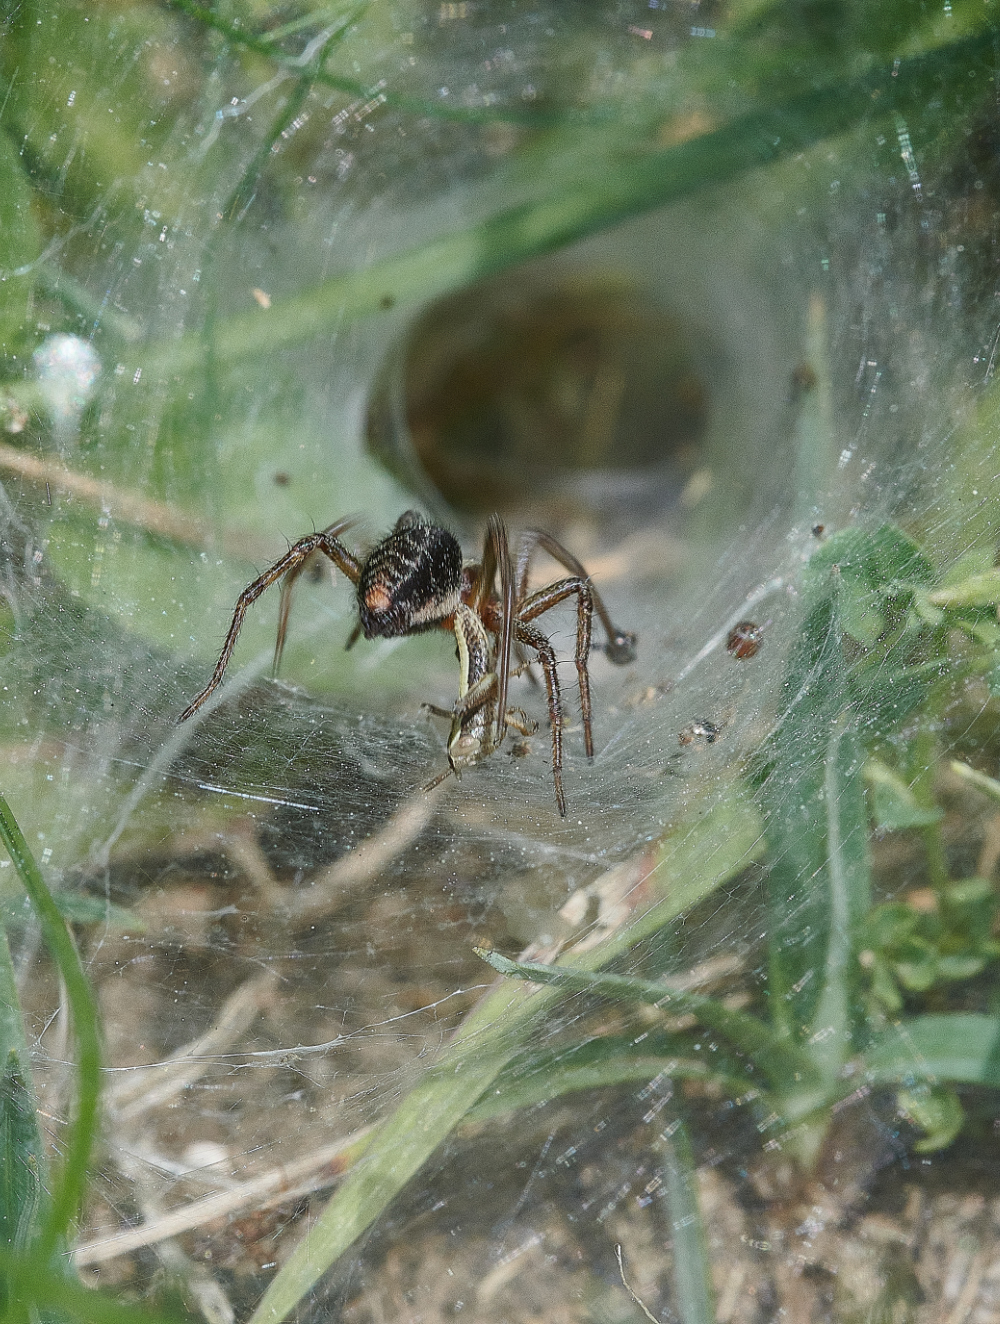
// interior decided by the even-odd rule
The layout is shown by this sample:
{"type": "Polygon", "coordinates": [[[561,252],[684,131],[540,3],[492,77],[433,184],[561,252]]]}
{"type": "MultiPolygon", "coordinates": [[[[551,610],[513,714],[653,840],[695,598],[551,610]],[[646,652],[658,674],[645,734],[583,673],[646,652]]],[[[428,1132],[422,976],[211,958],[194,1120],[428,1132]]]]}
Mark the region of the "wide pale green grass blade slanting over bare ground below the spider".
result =
{"type": "MultiPolygon", "coordinates": [[[[728,806],[728,817],[723,821],[731,821],[735,830],[718,835],[711,850],[703,849],[705,834],[710,831],[705,808],[701,804],[693,808],[690,818],[678,825],[654,866],[660,870],[657,882],[664,900],[650,906],[637,924],[585,952],[579,959],[580,967],[613,960],[638,936],[652,932],[653,924],[669,924],[746,867],[760,849],[760,831],[746,801],[736,800],[735,805],[719,804],[723,816],[728,806]],[[690,865],[686,876],[674,871],[681,861],[690,865]]],[[[494,1084],[514,1054],[528,1042],[559,992],[502,985],[466,1017],[441,1062],[371,1133],[340,1189],[272,1282],[250,1324],[277,1324],[294,1309],[494,1084]]]]}

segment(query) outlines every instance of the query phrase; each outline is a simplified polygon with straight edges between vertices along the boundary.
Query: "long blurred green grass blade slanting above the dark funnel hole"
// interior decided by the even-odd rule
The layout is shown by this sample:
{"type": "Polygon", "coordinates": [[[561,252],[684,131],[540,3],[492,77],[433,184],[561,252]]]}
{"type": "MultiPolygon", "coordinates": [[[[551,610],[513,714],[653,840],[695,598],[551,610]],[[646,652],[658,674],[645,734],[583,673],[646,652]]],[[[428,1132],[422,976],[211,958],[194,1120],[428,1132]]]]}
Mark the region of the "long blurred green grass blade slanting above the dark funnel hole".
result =
{"type": "MultiPolygon", "coordinates": [[[[992,52],[992,28],[910,60],[879,65],[853,81],[819,87],[739,117],[723,127],[661,151],[636,151],[623,136],[597,136],[572,176],[567,150],[579,148],[554,132],[532,159],[535,177],[548,192],[534,201],[501,211],[470,229],[376,262],[287,299],[266,314],[252,312],[220,323],[212,352],[220,365],[246,355],[274,354],[375,314],[387,299],[404,303],[432,299],[481,277],[523,262],[607,229],[630,216],[677,201],[746,171],[801,152],[841,134],[882,106],[967,87],[971,68],[992,52]],[[560,166],[560,162],[563,164],[560,166]]],[[[579,138],[579,132],[577,132],[579,138]]],[[[634,139],[634,135],[633,135],[634,139]]],[[[152,348],[150,369],[184,373],[201,361],[200,332],[152,348]]]]}

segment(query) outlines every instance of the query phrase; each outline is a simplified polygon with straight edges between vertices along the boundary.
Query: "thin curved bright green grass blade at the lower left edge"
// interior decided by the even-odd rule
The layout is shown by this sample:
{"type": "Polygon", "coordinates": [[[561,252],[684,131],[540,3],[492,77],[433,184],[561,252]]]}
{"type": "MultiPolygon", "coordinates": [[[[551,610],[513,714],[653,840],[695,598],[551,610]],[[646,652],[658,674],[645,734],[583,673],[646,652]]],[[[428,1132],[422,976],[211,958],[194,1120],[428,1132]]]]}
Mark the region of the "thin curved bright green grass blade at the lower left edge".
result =
{"type": "Polygon", "coordinates": [[[77,1110],[66,1137],[65,1158],[52,1205],[38,1235],[37,1254],[45,1260],[69,1230],[86,1182],[87,1160],[97,1128],[101,1071],[97,1005],[66,922],[60,915],[41,870],[3,796],[0,796],[0,839],[28,892],[45,944],[62,976],[77,1034],[77,1110]]]}

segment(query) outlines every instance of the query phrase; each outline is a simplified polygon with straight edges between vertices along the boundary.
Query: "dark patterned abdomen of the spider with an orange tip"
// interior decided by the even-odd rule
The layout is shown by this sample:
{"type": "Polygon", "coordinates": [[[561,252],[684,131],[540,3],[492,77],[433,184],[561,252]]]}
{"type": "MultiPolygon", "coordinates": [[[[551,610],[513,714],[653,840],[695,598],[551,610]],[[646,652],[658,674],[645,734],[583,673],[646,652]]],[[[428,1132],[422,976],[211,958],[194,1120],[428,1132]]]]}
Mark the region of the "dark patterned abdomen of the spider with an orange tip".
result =
{"type": "Polygon", "coordinates": [[[407,511],[362,568],[358,612],[364,637],[433,629],[458,606],[461,581],[462,551],[453,535],[407,511]]]}

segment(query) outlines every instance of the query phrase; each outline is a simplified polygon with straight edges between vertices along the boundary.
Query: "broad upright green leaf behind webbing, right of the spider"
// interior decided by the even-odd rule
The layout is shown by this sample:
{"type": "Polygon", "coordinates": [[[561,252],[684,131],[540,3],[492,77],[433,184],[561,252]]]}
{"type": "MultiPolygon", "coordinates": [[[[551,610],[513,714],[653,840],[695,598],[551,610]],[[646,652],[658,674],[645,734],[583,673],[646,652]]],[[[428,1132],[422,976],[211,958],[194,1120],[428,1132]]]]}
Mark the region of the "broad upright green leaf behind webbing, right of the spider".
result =
{"type": "Polygon", "coordinates": [[[849,944],[870,887],[861,749],[906,722],[940,674],[938,658],[911,661],[934,647],[909,610],[931,573],[917,544],[890,524],[841,530],[813,553],[781,719],[756,759],[771,847],[772,1017],[812,1041],[828,1079],[857,1047],[844,1031],[849,944]]]}

